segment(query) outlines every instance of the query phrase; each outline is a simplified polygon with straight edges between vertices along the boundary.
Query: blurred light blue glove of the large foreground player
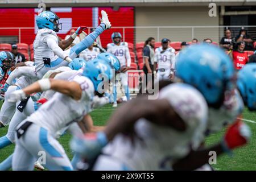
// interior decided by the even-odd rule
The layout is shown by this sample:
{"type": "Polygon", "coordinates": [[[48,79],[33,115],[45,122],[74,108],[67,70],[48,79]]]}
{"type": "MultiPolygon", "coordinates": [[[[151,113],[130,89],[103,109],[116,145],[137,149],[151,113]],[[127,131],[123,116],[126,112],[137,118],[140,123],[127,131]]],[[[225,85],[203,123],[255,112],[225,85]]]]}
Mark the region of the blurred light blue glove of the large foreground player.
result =
{"type": "Polygon", "coordinates": [[[73,137],[70,146],[86,160],[92,160],[100,154],[101,149],[106,146],[108,139],[105,133],[88,133],[82,137],[73,137]]]}

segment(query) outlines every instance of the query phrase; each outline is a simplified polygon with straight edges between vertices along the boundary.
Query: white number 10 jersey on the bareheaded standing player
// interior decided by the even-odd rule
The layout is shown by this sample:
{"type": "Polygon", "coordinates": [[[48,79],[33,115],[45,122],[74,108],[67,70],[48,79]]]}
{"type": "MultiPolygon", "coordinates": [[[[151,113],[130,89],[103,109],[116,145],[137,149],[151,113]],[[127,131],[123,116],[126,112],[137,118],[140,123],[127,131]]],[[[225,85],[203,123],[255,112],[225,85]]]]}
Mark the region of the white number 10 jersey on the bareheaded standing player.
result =
{"type": "Polygon", "coordinates": [[[162,47],[155,49],[155,63],[158,63],[158,68],[171,69],[171,65],[175,63],[175,49],[167,48],[163,51],[162,47]]]}

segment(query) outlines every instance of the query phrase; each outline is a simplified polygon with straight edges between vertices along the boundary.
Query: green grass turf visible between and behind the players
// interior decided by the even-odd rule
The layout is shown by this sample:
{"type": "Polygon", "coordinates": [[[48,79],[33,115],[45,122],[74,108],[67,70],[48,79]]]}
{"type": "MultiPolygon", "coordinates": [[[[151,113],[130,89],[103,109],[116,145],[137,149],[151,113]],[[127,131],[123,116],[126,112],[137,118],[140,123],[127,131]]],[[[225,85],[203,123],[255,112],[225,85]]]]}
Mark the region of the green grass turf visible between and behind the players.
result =
{"type": "MultiPolygon", "coordinates": [[[[102,107],[101,109],[94,110],[92,112],[92,118],[95,125],[105,125],[105,122],[110,117],[110,114],[114,111],[112,105],[107,105],[102,107]]],[[[124,116],[125,117],[125,116],[124,116]]],[[[256,120],[256,113],[249,113],[248,110],[243,112],[243,118],[256,120]]],[[[247,123],[252,130],[252,138],[249,145],[239,148],[234,151],[234,156],[231,158],[228,155],[222,155],[217,158],[217,164],[213,165],[213,168],[216,170],[256,170],[256,124],[255,123],[247,123]]],[[[214,144],[218,142],[224,131],[220,133],[211,135],[207,138],[207,144],[214,144]]],[[[0,136],[2,137],[7,133],[7,127],[0,129],[0,136]]],[[[65,134],[63,137],[59,139],[60,143],[64,146],[65,151],[67,152],[69,158],[72,158],[71,150],[69,148],[69,140],[71,139],[71,135],[65,134]]],[[[0,150],[0,162],[6,159],[14,150],[14,145],[12,144],[9,147],[6,147],[0,150]]]]}

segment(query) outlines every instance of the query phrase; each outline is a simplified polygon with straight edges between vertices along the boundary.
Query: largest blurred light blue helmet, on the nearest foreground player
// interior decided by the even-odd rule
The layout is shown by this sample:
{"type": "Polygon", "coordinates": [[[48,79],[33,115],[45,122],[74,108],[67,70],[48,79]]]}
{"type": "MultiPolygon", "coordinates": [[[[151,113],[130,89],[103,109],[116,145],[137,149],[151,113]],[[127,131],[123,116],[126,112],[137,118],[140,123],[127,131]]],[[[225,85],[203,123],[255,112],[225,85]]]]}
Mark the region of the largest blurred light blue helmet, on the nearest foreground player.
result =
{"type": "Polygon", "coordinates": [[[209,106],[219,108],[226,90],[234,89],[235,71],[224,51],[210,44],[189,46],[176,60],[176,76],[195,86],[209,106]]]}

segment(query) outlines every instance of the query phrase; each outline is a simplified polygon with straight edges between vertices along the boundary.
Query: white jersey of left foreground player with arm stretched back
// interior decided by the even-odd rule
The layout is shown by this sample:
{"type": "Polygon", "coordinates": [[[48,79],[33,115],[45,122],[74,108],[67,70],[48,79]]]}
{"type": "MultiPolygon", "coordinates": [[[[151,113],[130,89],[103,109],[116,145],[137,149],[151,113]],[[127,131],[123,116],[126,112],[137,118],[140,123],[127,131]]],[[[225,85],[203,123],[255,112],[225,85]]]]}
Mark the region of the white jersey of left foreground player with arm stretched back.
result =
{"type": "Polygon", "coordinates": [[[80,84],[82,89],[80,100],[73,100],[72,97],[57,92],[40,106],[38,111],[31,114],[27,121],[46,128],[52,135],[56,135],[57,131],[69,126],[72,122],[81,121],[92,109],[94,86],[92,81],[84,76],[77,75],[71,81],[80,84]]]}

